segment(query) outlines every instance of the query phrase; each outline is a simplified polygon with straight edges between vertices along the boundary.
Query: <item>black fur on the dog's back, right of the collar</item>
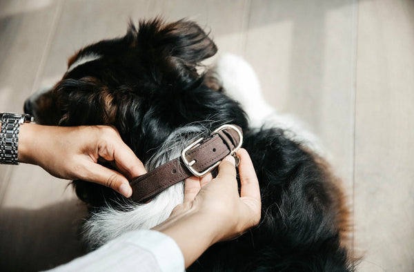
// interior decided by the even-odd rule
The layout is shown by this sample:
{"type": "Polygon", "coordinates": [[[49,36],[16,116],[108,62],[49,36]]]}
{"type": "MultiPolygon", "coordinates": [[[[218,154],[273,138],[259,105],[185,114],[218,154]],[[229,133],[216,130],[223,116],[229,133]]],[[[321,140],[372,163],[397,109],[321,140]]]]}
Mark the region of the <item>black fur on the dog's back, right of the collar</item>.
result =
{"type": "Polygon", "coordinates": [[[351,271],[339,244],[326,173],[280,129],[247,133],[262,191],[262,220],[236,241],[216,244],[188,271],[351,271]]]}

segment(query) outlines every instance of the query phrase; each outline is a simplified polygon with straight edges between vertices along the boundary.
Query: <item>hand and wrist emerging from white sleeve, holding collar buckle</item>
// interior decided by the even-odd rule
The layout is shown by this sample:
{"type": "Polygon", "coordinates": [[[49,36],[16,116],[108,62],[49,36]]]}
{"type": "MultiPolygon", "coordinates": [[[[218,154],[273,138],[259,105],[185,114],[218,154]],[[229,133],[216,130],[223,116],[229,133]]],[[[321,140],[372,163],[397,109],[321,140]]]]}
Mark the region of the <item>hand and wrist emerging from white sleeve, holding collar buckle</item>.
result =
{"type": "Polygon", "coordinates": [[[228,156],[219,165],[215,179],[211,175],[186,179],[184,204],[176,206],[168,220],[153,228],[177,242],[186,267],[209,246],[237,237],[259,224],[262,203],[255,169],[246,150],[240,149],[237,155],[240,195],[235,160],[228,156]]]}

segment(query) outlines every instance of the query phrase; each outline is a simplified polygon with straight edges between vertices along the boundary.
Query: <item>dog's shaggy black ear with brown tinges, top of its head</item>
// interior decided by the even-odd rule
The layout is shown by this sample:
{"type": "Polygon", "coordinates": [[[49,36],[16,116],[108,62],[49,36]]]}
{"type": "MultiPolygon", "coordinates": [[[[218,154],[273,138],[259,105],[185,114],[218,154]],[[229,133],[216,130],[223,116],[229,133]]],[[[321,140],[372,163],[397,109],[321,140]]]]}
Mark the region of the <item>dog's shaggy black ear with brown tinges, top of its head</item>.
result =
{"type": "MultiPolygon", "coordinates": [[[[129,37],[133,37],[134,32],[136,30],[130,24],[129,37]]],[[[136,37],[146,57],[150,57],[148,61],[175,80],[198,79],[197,66],[217,52],[213,40],[193,21],[168,24],[160,19],[141,21],[136,37]]]]}

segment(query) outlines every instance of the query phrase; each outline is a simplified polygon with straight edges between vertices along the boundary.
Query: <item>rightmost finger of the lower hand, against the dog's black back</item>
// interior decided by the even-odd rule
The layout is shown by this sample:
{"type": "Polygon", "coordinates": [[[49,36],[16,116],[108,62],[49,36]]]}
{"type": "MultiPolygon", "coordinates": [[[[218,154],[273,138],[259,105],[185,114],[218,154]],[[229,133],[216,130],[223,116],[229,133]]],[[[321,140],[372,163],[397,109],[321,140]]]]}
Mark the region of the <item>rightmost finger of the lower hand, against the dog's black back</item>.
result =
{"type": "Polygon", "coordinates": [[[241,197],[253,197],[255,200],[260,200],[259,181],[256,176],[255,168],[253,166],[250,155],[244,148],[237,151],[237,156],[240,158],[239,175],[241,197]]]}

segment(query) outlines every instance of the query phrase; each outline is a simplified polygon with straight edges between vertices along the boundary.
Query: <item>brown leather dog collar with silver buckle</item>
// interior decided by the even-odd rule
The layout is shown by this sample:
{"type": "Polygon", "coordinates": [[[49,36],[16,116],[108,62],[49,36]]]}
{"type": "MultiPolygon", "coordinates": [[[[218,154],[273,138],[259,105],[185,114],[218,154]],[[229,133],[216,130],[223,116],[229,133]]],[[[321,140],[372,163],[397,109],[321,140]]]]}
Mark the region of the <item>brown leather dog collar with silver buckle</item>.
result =
{"type": "Polygon", "coordinates": [[[132,179],[131,199],[135,202],[146,202],[187,177],[206,175],[219,165],[221,159],[227,155],[235,155],[242,142],[242,128],[229,124],[220,126],[210,137],[197,139],[184,148],[181,157],[132,179]]]}

